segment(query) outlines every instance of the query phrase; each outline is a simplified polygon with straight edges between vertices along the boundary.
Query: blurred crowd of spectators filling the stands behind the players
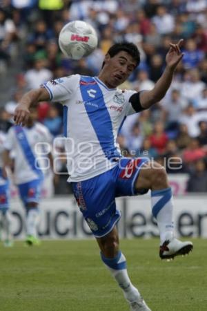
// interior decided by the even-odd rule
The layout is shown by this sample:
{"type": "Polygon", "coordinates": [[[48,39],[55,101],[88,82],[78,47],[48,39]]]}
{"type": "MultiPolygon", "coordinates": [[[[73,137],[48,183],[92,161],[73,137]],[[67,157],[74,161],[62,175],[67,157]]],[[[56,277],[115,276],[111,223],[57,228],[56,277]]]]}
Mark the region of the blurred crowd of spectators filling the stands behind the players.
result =
{"type": "MultiPolygon", "coordinates": [[[[141,64],[121,88],[153,88],[170,42],[184,38],[184,58],[166,97],[128,117],[118,142],[125,156],[170,159],[168,173],[189,174],[187,191],[207,191],[207,0],[0,0],[0,7],[0,78],[21,64],[12,98],[1,103],[3,131],[25,91],[65,75],[97,75],[117,41],[132,41],[141,52],[141,64]],[[99,35],[95,52],[79,61],[63,57],[57,44],[61,28],[75,19],[99,35]]],[[[61,105],[43,102],[38,113],[54,138],[61,136],[61,105]]],[[[64,161],[59,169],[66,169],[64,161]]]]}

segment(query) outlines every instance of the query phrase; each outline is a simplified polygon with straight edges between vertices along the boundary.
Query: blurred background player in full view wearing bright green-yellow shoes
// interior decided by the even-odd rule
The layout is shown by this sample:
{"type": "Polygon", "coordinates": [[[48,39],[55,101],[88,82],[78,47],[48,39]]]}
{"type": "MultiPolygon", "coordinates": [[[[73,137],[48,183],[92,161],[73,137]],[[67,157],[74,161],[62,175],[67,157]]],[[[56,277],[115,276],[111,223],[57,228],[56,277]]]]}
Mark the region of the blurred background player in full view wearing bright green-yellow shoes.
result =
{"type": "MultiPolygon", "coordinates": [[[[39,245],[37,225],[39,223],[39,198],[43,183],[43,155],[46,144],[50,146],[51,135],[37,120],[37,111],[32,111],[26,126],[12,126],[4,143],[4,166],[9,166],[10,153],[14,154],[14,182],[26,208],[26,243],[39,245]]],[[[50,162],[52,155],[48,153],[50,162]]]]}

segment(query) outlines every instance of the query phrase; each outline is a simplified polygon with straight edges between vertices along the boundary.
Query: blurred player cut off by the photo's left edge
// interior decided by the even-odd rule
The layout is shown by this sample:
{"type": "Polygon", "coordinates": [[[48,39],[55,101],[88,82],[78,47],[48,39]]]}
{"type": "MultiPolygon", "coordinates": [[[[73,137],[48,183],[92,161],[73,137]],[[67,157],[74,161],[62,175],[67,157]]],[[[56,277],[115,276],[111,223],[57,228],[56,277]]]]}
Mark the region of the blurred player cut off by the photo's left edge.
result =
{"type": "Polygon", "coordinates": [[[5,232],[4,246],[12,246],[11,216],[9,211],[9,180],[3,167],[3,144],[6,134],[0,131],[0,239],[1,232],[5,232]]]}

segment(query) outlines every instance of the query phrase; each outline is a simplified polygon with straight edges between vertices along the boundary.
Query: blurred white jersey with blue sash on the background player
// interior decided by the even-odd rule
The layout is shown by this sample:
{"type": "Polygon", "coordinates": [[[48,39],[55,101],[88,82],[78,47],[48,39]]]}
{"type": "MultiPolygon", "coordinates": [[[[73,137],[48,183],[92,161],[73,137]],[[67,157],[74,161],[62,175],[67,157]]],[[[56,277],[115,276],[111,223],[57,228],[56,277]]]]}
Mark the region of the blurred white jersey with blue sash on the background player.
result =
{"type": "Polygon", "coordinates": [[[14,156],[14,182],[17,185],[43,178],[41,167],[50,151],[52,135],[40,123],[31,128],[12,126],[7,134],[4,147],[14,156]]]}

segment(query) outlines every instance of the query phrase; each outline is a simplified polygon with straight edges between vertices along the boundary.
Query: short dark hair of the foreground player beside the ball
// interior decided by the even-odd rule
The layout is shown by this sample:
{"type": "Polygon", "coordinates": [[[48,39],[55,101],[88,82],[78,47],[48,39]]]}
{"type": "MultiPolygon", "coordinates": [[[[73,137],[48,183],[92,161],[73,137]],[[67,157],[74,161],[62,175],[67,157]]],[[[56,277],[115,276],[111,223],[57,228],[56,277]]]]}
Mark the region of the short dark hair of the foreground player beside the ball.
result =
{"type": "MultiPolygon", "coordinates": [[[[122,41],[122,42],[119,42],[117,44],[114,44],[113,46],[110,47],[107,54],[109,54],[110,57],[114,57],[115,55],[117,55],[122,50],[124,50],[129,55],[131,55],[132,59],[134,59],[135,62],[137,63],[136,66],[139,65],[139,63],[140,63],[139,50],[138,50],[137,46],[135,46],[135,44],[133,44],[131,42],[122,41]]],[[[103,62],[102,68],[103,68],[104,64],[105,64],[105,62],[103,62]]]]}

